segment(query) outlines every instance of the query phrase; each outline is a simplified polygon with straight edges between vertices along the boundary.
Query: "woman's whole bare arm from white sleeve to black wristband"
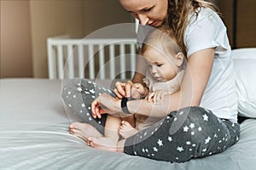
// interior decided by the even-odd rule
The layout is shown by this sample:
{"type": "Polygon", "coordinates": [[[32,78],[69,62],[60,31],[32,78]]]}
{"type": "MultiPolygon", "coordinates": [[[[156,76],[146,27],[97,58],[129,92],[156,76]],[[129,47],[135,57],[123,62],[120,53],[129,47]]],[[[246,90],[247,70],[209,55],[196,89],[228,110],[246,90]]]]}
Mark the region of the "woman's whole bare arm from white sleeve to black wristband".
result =
{"type": "Polygon", "coordinates": [[[144,116],[164,117],[170,111],[186,106],[198,106],[211,75],[214,48],[207,48],[189,56],[181,88],[174,94],[165,95],[157,105],[146,100],[128,101],[127,108],[132,113],[144,116]]]}

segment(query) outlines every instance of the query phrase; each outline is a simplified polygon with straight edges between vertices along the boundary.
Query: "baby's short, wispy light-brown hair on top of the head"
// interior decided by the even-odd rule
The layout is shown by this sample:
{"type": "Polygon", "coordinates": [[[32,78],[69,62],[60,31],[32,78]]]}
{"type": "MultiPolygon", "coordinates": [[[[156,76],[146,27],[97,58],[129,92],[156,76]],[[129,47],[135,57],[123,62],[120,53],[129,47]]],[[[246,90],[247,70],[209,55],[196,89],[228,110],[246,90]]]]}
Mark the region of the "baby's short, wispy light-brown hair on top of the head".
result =
{"type": "Polygon", "coordinates": [[[156,49],[158,44],[161,45],[166,54],[186,54],[186,51],[183,51],[183,48],[178,45],[177,38],[169,26],[160,26],[151,31],[143,42],[142,53],[144,54],[148,48],[156,49]]]}

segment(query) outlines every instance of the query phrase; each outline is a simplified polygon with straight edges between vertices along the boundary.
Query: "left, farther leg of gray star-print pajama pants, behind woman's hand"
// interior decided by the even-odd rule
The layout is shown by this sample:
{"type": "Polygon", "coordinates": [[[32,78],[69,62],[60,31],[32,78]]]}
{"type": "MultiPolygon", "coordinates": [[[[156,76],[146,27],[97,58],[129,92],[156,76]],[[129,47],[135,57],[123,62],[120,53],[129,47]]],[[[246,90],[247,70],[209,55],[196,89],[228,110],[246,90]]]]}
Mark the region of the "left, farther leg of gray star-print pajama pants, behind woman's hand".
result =
{"type": "Polygon", "coordinates": [[[101,119],[94,119],[90,111],[91,102],[103,93],[115,97],[111,89],[104,88],[88,79],[77,78],[64,84],[62,99],[73,113],[81,118],[81,122],[90,123],[93,127],[96,127],[100,133],[104,133],[105,122],[108,115],[104,114],[101,119]]]}

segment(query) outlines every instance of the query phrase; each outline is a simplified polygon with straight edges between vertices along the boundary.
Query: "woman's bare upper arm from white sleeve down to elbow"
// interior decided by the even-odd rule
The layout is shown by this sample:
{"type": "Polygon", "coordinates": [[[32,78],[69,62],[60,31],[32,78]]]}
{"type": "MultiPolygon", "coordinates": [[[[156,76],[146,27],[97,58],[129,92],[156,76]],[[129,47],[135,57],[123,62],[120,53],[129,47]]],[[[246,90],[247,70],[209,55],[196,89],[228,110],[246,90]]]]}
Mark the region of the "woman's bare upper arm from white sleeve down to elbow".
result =
{"type": "Polygon", "coordinates": [[[200,105],[212,72],[214,50],[215,48],[202,49],[189,56],[181,84],[182,99],[179,108],[200,105]]]}

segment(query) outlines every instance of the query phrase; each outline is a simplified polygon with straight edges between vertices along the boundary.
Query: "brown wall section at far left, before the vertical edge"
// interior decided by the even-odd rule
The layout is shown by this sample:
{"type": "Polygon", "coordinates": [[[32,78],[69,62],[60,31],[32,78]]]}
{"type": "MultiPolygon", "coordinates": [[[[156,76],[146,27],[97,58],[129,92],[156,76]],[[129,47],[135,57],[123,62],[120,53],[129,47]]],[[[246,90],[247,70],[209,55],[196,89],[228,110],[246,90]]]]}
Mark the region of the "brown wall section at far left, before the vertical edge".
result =
{"type": "Polygon", "coordinates": [[[0,77],[32,77],[32,41],[28,1],[0,1],[0,77]]]}

